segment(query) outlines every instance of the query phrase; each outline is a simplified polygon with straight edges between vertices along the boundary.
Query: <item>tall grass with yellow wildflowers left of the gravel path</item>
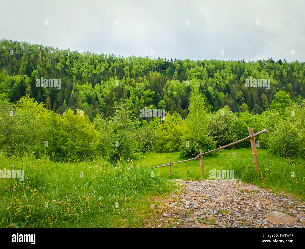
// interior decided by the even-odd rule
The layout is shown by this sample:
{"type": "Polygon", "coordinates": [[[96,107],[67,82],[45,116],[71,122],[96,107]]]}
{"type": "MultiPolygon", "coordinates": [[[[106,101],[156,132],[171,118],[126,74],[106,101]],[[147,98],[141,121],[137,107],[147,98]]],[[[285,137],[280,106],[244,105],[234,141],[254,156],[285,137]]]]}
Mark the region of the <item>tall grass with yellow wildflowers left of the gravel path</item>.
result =
{"type": "Polygon", "coordinates": [[[0,153],[0,170],[24,170],[24,181],[0,178],[0,227],[142,227],[147,198],[170,195],[174,183],[134,162],[59,163],[0,153]]]}

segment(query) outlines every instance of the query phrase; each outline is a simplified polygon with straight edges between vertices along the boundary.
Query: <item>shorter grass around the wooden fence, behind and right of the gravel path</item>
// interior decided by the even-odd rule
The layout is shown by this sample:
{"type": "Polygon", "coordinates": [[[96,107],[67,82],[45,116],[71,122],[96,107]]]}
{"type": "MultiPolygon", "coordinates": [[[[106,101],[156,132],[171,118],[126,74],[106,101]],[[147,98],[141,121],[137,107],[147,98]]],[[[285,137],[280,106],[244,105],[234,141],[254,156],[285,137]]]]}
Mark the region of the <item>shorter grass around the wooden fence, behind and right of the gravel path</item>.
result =
{"type": "MultiPolygon", "coordinates": [[[[171,167],[171,175],[168,176],[169,167],[155,169],[162,177],[169,179],[207,180],[209,171],[234,170],[235,178],[245,183],[256,184],[262,188],[271,188],[275,192],[284,191],[288,194],[305,200],[305,163],[303,160],[287,161],[285,158],[275,156],[270,150],[257,149],[258,159],[262,175],[255,173],[252,150],[249,149],[223,149],[217,156],[203,158],[203,177],[200,174],[199,159],[184,163],[175,163],[171,167]],[[294,172],[294,177],[291,175],[294,172]]],[[[179,153],[150,153],[138,160],[146,167],[155,167],[169,162],[185,160],[179,153]]]]}

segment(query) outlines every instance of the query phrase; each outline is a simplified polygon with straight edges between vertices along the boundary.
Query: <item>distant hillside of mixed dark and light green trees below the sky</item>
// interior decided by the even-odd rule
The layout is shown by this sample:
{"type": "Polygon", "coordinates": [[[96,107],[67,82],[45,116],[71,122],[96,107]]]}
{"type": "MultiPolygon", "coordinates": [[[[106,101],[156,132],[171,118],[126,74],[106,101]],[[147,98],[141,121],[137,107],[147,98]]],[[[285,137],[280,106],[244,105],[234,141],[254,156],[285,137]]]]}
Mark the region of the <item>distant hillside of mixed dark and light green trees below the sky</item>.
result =
{"type": "Polygon", "coordinates": [[[232,112],[262,113],[281,90],[296,102],[305,98],[305,63],[272,57],[256,62],[124,58],[1,40],[0,71],[0,100],[29,95],[56,113],[83,109],[91,121],[98,113],[112,116],[121,98],[137,117],[145,107],[186,117],[195,85],[209,112],[228,105],[232,112]],[[36,87],[41,77],[61,79],[61,88],[36,87]],[[246,87],[250,77],[270,79],[270,89],[246,87]]]}

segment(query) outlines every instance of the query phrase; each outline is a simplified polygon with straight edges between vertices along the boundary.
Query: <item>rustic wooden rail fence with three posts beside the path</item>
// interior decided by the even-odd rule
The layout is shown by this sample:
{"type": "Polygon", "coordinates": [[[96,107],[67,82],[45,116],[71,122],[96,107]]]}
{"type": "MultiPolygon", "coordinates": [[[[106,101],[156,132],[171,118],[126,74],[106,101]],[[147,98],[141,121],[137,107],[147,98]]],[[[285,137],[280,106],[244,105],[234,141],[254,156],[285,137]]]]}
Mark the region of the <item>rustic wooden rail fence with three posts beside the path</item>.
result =
{"type": "Polygon", "coordinates": [[[260,165],[258,163],[258,156],[257,156],[257,149],[256,149],[256,143],[255,143],[255,139],[254,137],[260,135],[260,134],[263,134],[264,132],[268,132],[268,129],[264,129],[260,132],[257,132],[256,134],[253,134],[253,129],[251,127],[248,127],[248,131],[249,131],[249,136],[248,137],[245,137],[243,139],[240,139],[238,141],[235,141],[235,142],[232,142],[230,144],[227,144],[225,146],[222,146],[222,147],[219,147],[217,149],[212,149],[210,151],[207,151],[205,153],[202,153],[202,150],[200,149],[199,151],[199,155],[197,155],[196,157],[194,158],[191,158],[191,159],[188,159],[188,160],[183,160],[183,161],[178,161],[178,162],[171,162],[171,160],[169,161],[169,163],[167,164],[164,164],[164,165],[161,165],[161,166],[156,166],[156,167],[152,167],[152,169],[154,168],[159,168],[159,167],[166,167],[166,166],[169,166],[169,175],[171,174],[171,165],[174,164],[174,163],[183,163],[183,162],[187,162],[187,161],[190,161],[190,160],[194,160],[194,159],[197,159],[199,158],[200,159],[200,171],[201,171],[201,176],[203,176],[203,155],[207,154],[207,153],[211,153],[211,152],[214,152],[216,150],[219,150],[219,149],[224,149],[226,147],[229,147],[231,145],[234,145],[234,144],[237,144],[237,143],[240,143],[240,142],[243,142],[247,139],[250,139],[250,142],[251,142],[251,148],[252,148],[252,155],[253,155],[253,160],[254,160],[254,166],[255,166],[255,171],[256,173],[259,173],[260,172],[260,165]]]}

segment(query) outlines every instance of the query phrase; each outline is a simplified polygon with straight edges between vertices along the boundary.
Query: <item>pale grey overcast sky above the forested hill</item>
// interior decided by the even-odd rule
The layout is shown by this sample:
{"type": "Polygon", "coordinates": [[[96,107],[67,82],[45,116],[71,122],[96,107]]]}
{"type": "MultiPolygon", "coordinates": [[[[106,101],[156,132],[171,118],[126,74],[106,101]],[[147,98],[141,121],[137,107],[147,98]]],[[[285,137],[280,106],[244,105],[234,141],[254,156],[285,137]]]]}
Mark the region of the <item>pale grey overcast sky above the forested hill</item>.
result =
{"type": "Polygon", "coordinates": [[[304,1],[30,0],[1,7],[0,39],[121,56],[305,61],[304,1]]]}

